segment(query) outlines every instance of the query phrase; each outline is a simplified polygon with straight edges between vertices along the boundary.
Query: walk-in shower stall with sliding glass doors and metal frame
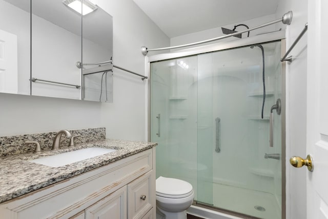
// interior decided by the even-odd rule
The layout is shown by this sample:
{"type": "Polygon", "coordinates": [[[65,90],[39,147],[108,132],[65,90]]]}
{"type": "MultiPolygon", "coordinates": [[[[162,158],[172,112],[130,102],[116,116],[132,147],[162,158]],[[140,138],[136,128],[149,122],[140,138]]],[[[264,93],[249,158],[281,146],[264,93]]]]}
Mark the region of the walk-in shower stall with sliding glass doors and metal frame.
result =
{"type": "Polygon", "coordinates": [[[191,183],[191,208],[285,218],[283,36],[148,57],[156,178],[191,183]]]}

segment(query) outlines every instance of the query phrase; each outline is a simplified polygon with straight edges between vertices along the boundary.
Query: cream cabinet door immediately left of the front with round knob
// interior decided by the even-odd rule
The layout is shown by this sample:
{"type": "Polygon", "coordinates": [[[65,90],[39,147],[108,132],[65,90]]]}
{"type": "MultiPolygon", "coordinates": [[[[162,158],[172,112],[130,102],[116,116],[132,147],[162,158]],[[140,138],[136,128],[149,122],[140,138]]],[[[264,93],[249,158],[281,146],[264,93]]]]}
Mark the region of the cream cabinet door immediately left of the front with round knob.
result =
{"type": "Polygon", "coordinates": [[[124,186],[86,209],[86,219],[126,219],[127,187],[124,186]]]}

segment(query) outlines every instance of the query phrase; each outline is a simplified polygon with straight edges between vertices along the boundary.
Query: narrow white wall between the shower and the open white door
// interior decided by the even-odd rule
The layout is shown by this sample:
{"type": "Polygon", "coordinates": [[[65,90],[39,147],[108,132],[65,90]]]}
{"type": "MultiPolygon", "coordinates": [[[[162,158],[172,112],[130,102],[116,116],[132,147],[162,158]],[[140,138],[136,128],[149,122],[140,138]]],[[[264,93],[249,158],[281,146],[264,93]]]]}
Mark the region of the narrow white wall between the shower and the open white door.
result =
{"type": "MultiPolygon", "coordinates": [[[[286,49],[290,48],[308,21],[308,1],[280,0],[277,17],[293,11],[293,21],[286,28],[286,49]]],[[[307,35],[291,52],[295,60],[286,64],[286,218],[304,218],[306,215],[306,168],[293,168],[291,156],[306,156],[306,68],[307,35]]]]}

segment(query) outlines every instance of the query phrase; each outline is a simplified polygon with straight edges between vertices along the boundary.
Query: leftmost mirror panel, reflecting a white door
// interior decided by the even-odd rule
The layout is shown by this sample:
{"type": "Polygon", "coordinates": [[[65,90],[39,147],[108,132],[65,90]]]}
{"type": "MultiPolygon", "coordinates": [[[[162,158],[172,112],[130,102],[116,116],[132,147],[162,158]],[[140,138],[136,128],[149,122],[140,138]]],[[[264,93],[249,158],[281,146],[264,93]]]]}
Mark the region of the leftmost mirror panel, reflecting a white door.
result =
{"type": "Polygon", "coordinates": [[[30,95],[30,1],[0,0],[0,92],[30,95]]]}

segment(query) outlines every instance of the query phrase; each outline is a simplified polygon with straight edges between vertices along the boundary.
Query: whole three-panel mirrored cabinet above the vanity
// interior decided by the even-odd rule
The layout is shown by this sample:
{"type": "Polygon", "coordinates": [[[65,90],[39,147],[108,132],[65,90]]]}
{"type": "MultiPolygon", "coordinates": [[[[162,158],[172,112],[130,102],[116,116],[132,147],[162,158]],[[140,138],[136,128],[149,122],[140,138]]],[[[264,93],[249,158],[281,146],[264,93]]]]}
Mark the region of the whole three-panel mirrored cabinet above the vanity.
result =
{"type": "Polygon", "coordinates": [[[111,59],[112,16],[96,5],[85,14],[81,2],[93,5],[89,0],[0,0],[0,92],[111,102],[111,72],[83,76],[88,67],[79,69],[76,62],[111,59]]]}

